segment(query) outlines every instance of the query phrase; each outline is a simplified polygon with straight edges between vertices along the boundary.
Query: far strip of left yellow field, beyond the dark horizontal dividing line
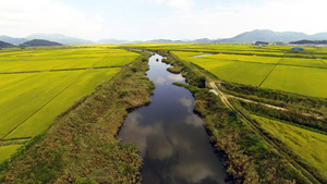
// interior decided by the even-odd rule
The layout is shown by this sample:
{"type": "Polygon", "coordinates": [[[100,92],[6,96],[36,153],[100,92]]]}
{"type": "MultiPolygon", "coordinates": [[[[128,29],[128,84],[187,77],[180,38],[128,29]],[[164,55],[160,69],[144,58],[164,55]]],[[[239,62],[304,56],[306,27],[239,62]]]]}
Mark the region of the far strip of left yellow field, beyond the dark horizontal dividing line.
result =
{"type": "Polygon", "coordinates": [[[122,66],[137,58],[122,49],[70,48],[0,52],[0,73],[94,66],[122,66]]]}

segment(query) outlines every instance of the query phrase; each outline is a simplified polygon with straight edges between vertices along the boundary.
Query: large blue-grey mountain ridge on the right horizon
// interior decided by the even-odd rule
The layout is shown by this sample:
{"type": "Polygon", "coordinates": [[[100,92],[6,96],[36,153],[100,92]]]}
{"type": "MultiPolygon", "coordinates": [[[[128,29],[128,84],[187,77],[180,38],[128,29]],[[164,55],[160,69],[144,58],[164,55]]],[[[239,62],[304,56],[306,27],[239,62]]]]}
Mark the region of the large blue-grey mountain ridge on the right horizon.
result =
{"type": "Polygon", "coordinates": [[[327,33],[320,33],[315,35],[306,35],[298,32],[272,32],[268,29],[256,29],[252,32],[245,32],[235,37],[221,39],[217,42],[290,42],[301,39],[327,39],[327,33]]]}

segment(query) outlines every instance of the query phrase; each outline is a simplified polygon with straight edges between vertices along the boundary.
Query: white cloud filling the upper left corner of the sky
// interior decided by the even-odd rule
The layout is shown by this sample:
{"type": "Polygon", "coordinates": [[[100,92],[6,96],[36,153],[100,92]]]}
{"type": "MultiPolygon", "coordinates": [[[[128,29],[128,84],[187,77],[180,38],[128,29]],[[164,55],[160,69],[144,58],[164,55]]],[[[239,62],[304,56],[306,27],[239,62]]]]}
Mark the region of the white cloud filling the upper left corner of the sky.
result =
{"type": "Polygon", "coordinates": [[[100,15],[87,16],[55,0],[10,0],[0,2],[0,33],[27,36],[35,33],[61,33],[96,37],[101,29],[100,15]],[[22,32],[23,29],[23,32],[22,32]]]}

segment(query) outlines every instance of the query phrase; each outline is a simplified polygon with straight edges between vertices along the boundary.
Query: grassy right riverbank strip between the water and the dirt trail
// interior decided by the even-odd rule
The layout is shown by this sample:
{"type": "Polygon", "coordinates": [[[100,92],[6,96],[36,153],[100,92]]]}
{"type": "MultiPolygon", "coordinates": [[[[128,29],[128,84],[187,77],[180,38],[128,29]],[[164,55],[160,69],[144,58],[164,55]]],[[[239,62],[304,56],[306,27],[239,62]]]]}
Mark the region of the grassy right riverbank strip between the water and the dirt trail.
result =
{"type": "Polygon", "coordinates": [[[228,109],[217,95],[202,87],[214,81],[210,74],[168,51],[159,52],[167,57],[168,63],[180,69],[192,85],[177,83],[193,93],[196,100],[193,108],[204,116],[213,143],[227,157],[228,173],[238,182],[311,183],[311,175],[304,176],[294,168],[298,164],[287,161],[288,157],[279,154],[274,143],[267,142],[253,124],[243,120],[240,112],[228,109]]]}

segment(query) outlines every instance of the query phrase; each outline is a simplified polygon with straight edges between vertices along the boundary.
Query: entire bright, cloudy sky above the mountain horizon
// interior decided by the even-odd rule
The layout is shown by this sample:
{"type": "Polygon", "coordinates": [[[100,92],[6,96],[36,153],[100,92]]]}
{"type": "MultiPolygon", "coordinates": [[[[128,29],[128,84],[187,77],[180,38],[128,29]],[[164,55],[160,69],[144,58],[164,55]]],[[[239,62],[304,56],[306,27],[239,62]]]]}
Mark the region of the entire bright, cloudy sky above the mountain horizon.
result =
{"type": "Polygon", "coordinates": [[[327,32],[326,0],[0,0],[0,35],[84,39],[229,38],[327,32]]]}

